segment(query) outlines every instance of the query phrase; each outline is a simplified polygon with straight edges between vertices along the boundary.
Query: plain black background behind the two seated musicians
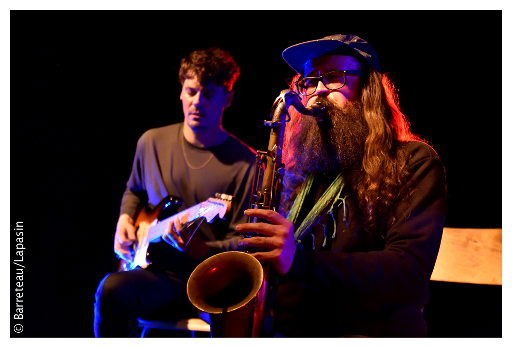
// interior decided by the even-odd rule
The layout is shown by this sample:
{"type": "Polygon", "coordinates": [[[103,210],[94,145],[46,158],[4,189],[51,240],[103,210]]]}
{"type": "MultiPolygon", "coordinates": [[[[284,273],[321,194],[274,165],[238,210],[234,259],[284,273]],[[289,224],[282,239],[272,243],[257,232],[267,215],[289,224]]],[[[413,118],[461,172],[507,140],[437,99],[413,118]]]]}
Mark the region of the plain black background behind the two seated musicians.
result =
{"type": "MultiPolygon", "coordinates": [[[[11,337],[93,335],[94,292],[118,264],[113,235],[136,141],[149,128],[182,121],[180,59],[200,48],[228,50],[240,64],[223,127],[266,149],[263,120],[294,73],[281,52],[332,34],[364,38],[395,82],[414,133],[444,163],[445,226],[502,227],[501,11],[11,11],[10,17],[11,225],[24,222],[27,248],[24,332],[11,337]]],[[[12,249],[14,233],[10,238],[12,249]]],[[[14,298],[12,270],[11,278],[14,298]]],[[[430,335],[501,336],[501,287],[491,288],[484,291],[499,298],[485,321],[498,329],[475,333],[456,318],[452,331],[429,324],[430,335]]],[[[467,292],[450,289],[450,298],[433,292],[431,306],[442,310],[443,300],[453,305],[467,292]]]]}

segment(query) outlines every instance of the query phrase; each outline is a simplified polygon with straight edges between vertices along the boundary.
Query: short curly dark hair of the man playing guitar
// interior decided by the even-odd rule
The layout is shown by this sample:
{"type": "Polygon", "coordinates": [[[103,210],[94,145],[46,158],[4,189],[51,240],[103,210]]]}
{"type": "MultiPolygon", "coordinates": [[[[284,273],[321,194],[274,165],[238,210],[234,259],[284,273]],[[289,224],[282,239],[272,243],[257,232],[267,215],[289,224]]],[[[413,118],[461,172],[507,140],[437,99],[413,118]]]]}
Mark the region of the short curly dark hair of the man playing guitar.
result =
{"type": "Polygon", "coordinates": [[[188,78],[197,77],[205,85],[215,83],[225,91],[231,91],[240,76],[240,67],[227,51],[217,47],[197,50],[181,59],[178,78],[183,84],[188,78]]]}

